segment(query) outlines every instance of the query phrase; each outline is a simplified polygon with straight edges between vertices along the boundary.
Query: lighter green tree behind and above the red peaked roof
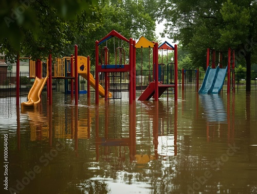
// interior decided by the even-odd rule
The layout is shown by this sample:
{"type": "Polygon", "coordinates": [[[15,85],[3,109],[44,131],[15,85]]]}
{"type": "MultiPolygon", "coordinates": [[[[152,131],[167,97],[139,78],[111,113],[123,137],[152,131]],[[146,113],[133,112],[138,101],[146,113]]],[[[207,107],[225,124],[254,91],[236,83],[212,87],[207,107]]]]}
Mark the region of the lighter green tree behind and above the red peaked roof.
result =
{"type": "MultiPolygon", "coordinates": [[[[116,30],[127,39],[138,40],[141,36],[144,36],[151,41],[157,40],[155,34],[156,10],[158,9],[156,0],[100,1],[99,9],[103,18],[102,25],[96,29],[94,34],[84,37],[88,43],[88,55],[95,56],[95,41],[102,39],[112,30],[116,30]],[[149,5],[150,2],[151,6],[149,5]]],[[[114,44],[118,47],[117,39],[108,40],[108,46],[114,44]]],[[[109,51],[111,56],[114,56],[114,46],[111,48],[109,51]]],[[[126,50],[127,53],[128,50],[126,50]]],[[[114,57],[111,57],[112,59],[114,57]]],[[[94,64],[94,60],[91,60],[91,65],[94,64]]]]}

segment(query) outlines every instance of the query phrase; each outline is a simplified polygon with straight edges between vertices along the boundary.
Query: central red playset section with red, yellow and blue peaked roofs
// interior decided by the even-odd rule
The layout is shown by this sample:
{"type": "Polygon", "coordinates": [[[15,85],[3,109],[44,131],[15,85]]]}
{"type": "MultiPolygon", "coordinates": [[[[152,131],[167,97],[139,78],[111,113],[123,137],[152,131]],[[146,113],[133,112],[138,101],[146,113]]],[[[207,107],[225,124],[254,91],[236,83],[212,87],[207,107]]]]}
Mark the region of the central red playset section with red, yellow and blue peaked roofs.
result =
{"type": "MultiPolygon", "coordinates": [[[[119,34],[118,32],[116,32],[115,30],[109,32],[104,38],[102,38],[100,41],[96,41],[96,104],[99,103],[99,96],[98,94],[98,81],[99,81],[99,73],[103,72],[105,73],[105,78],[104,78],[104,82],[105,82],[105,100],[108,99],[115,99],[115,95],[113,96],[113,98],[108,98],[107,95],[107,88],[109,90],[109,78],[112,78],[113,80],[115,80],[116,77],[121,77],[120,75],[118,76],[117,73],[121,73],[121,72],[129,72],[130,76],[129,76],[129,94],[130,94],[130,103],[132,103],[133,100],[136,99],[136,48],[153,48],[153,77],[154,77],[154,81],[149,83],[149,86],[146,87],[146,89],[144,90],[144,92],[141,94],[141,96],[138,98],[138,100],[140,101],[144,101],[144,100],[149,100],[151,97],[154,96],[155,100],[157,101],[158,98],[161,96],[161,94],[166,91],[169,87],[174,87],[174,91],[175,91],[175,100],[177,100],[177,46],[175,45],[175,48],[168,45],[167,42],[165,42],[165,44],[162,44],[162,49],[163,46],[166,49],[174,49],[174,54],[175,54],[175,70],[174,70],[174,79],[175,79],[175,83],[174,84],[170,84],[170,85],[164,85],[161,84],[161,82],[159,82],[159,62],[158,62],[158,43],[155,42],[151,42],[147,39],[145,39],[144,37],[141,37],[139,39],[139,41],[136,43],[132,38],[130,38],[130,40],[127,40],[126,38],[124,38],[123,36],[121,36],[121,34],[119,34]],[[128,52],[129,52],[129,57],[128,57],[128,64],[125,64],[125,49],[122,47],[115,47],[115,64],[110,64],[110,59],[109,59],[109,49],[107,47],[107,43],[106,46],[104,46],[101,49],[101,63],[99,64],[99,45],[101,45],[102,43],[106,42],[108,39],[111,38],[118,38],[120,40],[125,41],[126,43],[129,43],[129,48],[128,48],[128,52]],[[119,60],[118,60],[118,55],[119,54],[119,60]],[[117,62],[118,61],[118,62],[117,62]],[[158,65],[156,65],[158,64],[158,65]]],[[[150,54],[149,54],[150,57],[150,54]]],[[[149,65],[150,67],[150,65],[149,65]]],[[[149,73],[150,74],[150,73],[149,73]]],[[[149,79],[150,79],[150,75],[149,75],[149,79]]],[[[120,79],[121,80],[121,79],[120,79]]],[[[117,84],[117,83],[115,83],[117,84]]],[[[120,83],[121,84],[121,83],[120,83]]],[[[112,92],[117,92],[117,90],[111,90],[112,92]]],[[[120,91],[120,90],[119,90],[120,91]]]]}

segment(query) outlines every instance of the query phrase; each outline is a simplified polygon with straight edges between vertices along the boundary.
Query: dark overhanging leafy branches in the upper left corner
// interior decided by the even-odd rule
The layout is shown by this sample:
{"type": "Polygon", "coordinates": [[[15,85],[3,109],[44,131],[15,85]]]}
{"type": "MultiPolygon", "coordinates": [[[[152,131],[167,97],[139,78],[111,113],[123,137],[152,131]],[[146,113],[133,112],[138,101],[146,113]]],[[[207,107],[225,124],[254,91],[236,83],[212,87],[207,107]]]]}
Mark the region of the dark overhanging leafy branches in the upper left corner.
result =
{"type": "Polygon", "coordinates": [[[90,33],[94,30],[90,24],[100,21],[97,4],[91,0],[4,0],[0,9],[0,52],[9,60],[18,52],[34,59],[49,52],[60,56],[76,34],[90,33]]]}

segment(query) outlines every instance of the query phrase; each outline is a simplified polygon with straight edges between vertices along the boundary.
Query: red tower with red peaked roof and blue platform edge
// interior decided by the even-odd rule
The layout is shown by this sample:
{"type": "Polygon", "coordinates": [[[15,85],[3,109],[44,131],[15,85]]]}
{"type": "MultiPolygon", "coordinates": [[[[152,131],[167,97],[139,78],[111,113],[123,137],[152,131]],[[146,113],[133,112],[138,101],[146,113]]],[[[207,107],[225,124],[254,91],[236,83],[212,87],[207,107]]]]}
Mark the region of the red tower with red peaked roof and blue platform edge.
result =
{"type": "MultiPolygon", "coordinates": [[[[114,40],[115,42],[115,40],[114,40]]],[[[110,78],[114,81],[114,84],[118,84],[117,78],[121,80],[121,75],[117,75],[117,73],[121,72],[129,72],[129,100],[132,103],[133,100],[136,99],[136,80],[135,80],[135,73],[136,73],[136,63],[135,63],[135,41],[130,38],[130,40],[123,37],[117,31],[112,30],[109,32],[104,38],[100,41],[96,41],[96,104],[99,103],[99,73],[104,73],[104,83],[105,83],[105,95],[104,99],[107,101],[108,99],[115,99],[115,94],[112,98],[109,98],[108,91],[121,92],[121,90],[110,90],[110,78]],[[125,64],[126,56],[125,56],[125,49],[123,47],[118,46],[117,48],[114,45],[115,49],[115,64],[110,64],[110,53],[109,48],[107,47],[107,40],[111,38],[118,38],[121,41],[124,41],[126,44],[128,43],[128,63],[125,64]],[[99,46],[106,42],[106,46],[101,49],[101,63],[99,64],[99,46]],[[119,55],[119,56],[118,56],[119,55]],[[118,60],[119,57],[119,60],[118,60]]],[[[120,83],[121,85],[121,83],[120,83]]]]}

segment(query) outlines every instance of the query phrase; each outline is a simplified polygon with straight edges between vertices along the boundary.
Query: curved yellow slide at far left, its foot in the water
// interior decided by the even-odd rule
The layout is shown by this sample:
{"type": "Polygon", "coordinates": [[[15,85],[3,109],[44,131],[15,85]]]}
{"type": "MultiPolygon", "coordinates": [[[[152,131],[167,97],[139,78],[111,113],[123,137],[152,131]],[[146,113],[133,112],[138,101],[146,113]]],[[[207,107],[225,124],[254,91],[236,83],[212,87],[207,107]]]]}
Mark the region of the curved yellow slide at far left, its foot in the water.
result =
{"type": "Polygon", "coordinates": [[[36,110],[39,102],[41,101],[40,94],[43,90],[46,80],[47,80],[47,77],[43,79],[39,79],[38,77],[35,77],[34,84],[32,85],[27,97],[28,101],[21,103],[22,110],[26,108],[34,108],[34,110],[36,110]]]}

